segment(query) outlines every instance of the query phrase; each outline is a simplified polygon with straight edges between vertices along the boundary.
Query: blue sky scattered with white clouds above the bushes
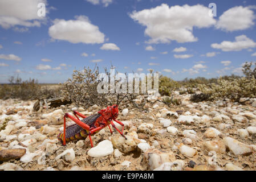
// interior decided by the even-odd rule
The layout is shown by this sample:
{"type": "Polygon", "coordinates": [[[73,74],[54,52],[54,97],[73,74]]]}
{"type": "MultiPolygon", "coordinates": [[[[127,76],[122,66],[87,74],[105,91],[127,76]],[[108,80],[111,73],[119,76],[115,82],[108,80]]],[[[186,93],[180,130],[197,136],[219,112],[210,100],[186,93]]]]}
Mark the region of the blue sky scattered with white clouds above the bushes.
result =
{"type": "Polygon", "coordinates": [[[148,69],[182,80],[241,75],[256,60],[251,1],[1,0],[0,82],[58,83],[74,68],[148,69]],[[46,16],[37,15],[38,3],[46,16]],[[209,16],[215,3],[217,16],[209,16]]]}

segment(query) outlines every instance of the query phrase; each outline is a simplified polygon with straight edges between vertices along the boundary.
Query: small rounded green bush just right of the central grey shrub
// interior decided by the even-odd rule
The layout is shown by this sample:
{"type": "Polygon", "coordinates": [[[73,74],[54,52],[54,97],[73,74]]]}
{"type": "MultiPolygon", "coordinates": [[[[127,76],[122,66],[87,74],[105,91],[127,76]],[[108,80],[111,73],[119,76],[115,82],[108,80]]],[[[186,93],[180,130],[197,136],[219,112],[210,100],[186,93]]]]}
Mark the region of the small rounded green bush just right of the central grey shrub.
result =
{"type": "Polygon", "coordinates": [[[159,93],[162,96],[171,96],[172,90],[179,88],[180,85],[177,81],[172,80],[172,78],[166,76],[159,77],[159,93]]]}

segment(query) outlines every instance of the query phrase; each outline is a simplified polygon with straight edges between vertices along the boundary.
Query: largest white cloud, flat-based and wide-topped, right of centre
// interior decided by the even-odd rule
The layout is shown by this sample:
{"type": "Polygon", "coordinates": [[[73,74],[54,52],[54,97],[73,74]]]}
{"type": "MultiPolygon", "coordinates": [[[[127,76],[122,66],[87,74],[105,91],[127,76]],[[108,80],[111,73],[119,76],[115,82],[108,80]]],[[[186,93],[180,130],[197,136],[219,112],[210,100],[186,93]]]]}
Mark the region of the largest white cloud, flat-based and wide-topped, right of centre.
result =
{"type": "Polygon", "coordinates": [[[133,11],[129,16],[146,26],[145,35],[151,39],[148,43],[196,42],[192,34],[193,27],[206,28],[216,23],[209,16],[209,8],[202,5],[171,6],[162,4],[152,9],[133,11]]]}

